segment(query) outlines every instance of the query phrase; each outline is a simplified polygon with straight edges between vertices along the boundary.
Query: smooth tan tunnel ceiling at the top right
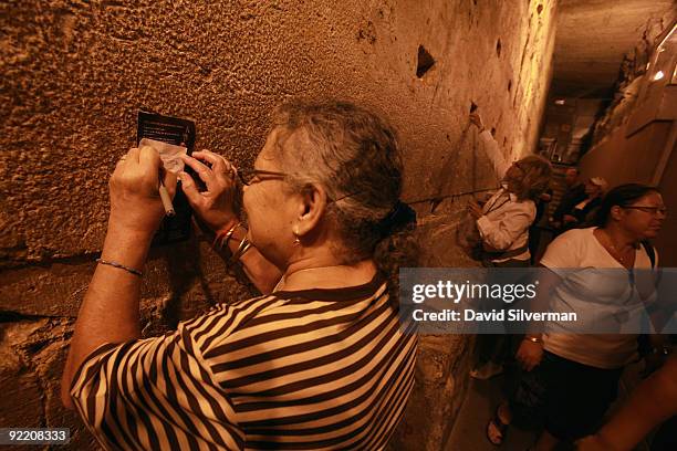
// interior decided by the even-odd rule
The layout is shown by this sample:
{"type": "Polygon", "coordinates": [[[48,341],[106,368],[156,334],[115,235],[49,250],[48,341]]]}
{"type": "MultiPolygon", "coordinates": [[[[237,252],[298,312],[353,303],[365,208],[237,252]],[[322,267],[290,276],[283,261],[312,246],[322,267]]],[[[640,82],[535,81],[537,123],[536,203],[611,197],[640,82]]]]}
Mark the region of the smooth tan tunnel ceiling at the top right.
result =
{"type": "Polygon", "coordinates": [[[676,9],[675,0],[560,0],[552,93],[611,95],[623,56],[647,30],[667,28],[676,9]]]}

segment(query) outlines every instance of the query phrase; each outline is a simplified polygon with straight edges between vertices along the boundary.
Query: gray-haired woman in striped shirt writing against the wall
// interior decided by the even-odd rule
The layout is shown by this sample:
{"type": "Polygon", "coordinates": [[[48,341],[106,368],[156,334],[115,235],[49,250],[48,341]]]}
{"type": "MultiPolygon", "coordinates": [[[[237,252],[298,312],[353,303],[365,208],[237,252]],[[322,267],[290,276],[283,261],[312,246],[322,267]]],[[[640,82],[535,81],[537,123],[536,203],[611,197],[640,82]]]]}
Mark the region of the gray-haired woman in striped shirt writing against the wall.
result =
{"type": "Polygon", "coordinates": [[[108,232],[75,325],[64,402],[106,449],[383,448],[416,356],[390,282],[400,262],[415,264],[393,129],[351,104],[295,103],[277,109],[253,170],[209,151],[194,157],[186,162],[207,190],[183,172],[186,196],[270,294],[140,339],[160,160],[129,150],[111,179],[108,232]],[[233,209],[238,178],[248,229],[233,209]]]}

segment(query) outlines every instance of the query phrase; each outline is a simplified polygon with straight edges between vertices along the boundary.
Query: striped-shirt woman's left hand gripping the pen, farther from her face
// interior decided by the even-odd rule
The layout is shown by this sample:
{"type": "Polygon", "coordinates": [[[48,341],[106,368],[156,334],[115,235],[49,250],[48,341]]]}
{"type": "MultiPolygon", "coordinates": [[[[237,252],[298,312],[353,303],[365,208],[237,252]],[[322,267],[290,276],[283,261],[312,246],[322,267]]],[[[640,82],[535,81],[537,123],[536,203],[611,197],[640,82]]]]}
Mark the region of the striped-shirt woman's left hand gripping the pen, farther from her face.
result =
{"type": "Polygon", "coordinates": [[[117,161],[108,181],[110,228],[147,235],[155,233],[165,217],[158,191],[160,170],[169,196],[176,192],[176,176],[160,168],[159,154],[149,146],[132,148],[117,161]]]}

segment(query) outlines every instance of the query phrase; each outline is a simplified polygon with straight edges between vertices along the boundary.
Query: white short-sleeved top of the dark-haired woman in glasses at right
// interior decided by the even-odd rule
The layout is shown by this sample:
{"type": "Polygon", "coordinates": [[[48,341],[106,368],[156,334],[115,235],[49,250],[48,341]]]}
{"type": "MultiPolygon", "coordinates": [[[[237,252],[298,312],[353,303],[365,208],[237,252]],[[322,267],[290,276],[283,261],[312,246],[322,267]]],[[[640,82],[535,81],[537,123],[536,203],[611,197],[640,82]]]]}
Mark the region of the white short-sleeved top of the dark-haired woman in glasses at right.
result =
{"type": "MultiPolygon", "coordinates": [[[[593,234],[595,229],[573,229],[561,234],[548,247],[541,264],[563,280],[554,289],[551,311],[575,312],[576,327],[607,333],[572,334],[567,333],[571,325],[550,322],[543,334],[543,348],[596,368],[619,368],[632,361],[637,350],[637,335],[623,331],[638,331],[636,322],[642,321],[644,303],[652,302],[655,294],[643,291],[640,297],[638,282],[631,284],[629,272],[600,243],[593,234]],[[608,333],[612,331],[618,333],[608,333]]],[[[634,269],[650,268],[646,250],[639,247],[634,269]]]]}

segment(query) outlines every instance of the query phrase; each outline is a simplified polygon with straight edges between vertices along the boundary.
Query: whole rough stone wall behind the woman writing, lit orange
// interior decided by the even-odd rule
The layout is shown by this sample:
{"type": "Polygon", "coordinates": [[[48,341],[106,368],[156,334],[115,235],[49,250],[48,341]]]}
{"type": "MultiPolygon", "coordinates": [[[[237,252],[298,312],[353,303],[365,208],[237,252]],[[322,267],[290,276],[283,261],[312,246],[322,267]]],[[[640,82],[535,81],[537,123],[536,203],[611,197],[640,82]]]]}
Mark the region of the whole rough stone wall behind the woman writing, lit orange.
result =
{"type": "MultiPolygon", "coordinates": [[[[59,375],[101,250],[107,178],[136,112],[197,123],[198,148],[251,165],[270,109],[347,98],[398,128],[405,200],[429,265],[473,264],[454,242],[468,193],[496,186],[476,157],[471,104],[509,157],[534,147],[554,0],[22,0],[0,4],[1,426],[70,427],[59,375]],[[440,203],[441,202],[441,203],[440,203]],[[438,204],[430,214],[431,204],[438,204]]],[[[153,251],[144,334],[249,296],[199,238],[153,251]]],[[[467,384],[468,337],[423,337],[396,449],[439,449],[467,384]],[[426,415],[420,415],[425,411],[426,415]]]]}

